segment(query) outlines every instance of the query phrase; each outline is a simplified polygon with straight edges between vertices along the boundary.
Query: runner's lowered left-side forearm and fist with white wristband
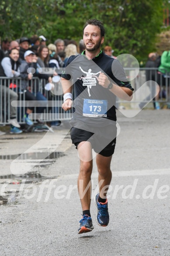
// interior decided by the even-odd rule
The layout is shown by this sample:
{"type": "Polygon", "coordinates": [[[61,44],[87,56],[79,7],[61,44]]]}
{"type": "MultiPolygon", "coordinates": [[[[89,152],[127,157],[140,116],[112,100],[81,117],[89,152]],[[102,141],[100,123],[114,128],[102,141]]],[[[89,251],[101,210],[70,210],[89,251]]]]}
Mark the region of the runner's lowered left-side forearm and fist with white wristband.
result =
{"type": "MultiPolygon", "coordinates": [[[[62,85],[62,88],[63,88],[63,92],[64,92],[64,95],[67,94],[67,93],[72,93],[72,89],[73,89],[73,85],[71,83],[71,81],[61,77],[61,85],[62,85]]],[[[67,111],[67,110],[70,110],[71,109],[71,105],[72,105],[73,101],[72,101],[72,98],[67,98],[63,105],[62,105],[62,108],[67,111]]]]}

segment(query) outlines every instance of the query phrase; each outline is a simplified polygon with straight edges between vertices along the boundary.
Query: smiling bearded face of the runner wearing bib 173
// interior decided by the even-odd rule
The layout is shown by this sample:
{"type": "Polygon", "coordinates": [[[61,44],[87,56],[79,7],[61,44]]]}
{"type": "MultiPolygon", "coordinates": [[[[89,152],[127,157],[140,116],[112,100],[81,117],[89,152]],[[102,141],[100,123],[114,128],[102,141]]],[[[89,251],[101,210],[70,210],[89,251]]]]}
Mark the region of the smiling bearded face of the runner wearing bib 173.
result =
{"type": "Polygon", "coordinates": [[[101,32],[98,26],[87,25],[83,34],[83,42],[85,50],[94,51],[100,48],[104,41],[104,36],[101,37],[101,32]]]}

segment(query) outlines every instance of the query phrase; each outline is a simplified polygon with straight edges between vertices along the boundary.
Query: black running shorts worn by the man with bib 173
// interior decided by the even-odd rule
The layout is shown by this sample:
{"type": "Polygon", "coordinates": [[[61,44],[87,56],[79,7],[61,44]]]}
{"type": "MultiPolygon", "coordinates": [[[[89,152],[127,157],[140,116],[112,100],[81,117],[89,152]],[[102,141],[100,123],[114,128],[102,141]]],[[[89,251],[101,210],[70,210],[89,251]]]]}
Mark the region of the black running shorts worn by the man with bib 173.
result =
{"type": "Polygon", "coordinates": [[[117,127],[108,125],[104,127],[95,127],[94,130],[95,133],[92,133],[72,127],[72,143],[77,148],[81,141],[89,141],[96,153],[103,156],[113,155],[116,145],[117,127]]]}

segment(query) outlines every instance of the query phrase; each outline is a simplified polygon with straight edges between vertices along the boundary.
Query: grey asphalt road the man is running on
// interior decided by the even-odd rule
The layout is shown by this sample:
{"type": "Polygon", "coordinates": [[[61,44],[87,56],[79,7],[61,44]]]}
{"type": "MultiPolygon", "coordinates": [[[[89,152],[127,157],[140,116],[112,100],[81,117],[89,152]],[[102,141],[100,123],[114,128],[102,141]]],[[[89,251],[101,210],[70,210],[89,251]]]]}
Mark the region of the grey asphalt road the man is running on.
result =
{"type": "Polygon", "coordinates": [[[117,116],[110,223],[96,223],[94,159],[95,228],[81,235],[79,159],[69,129],[0,137],[0,193],[8,196],[6,205],[0,201],[0,256],[170,256],[170,110],[117,116]],[[53,151],[57,159],[45,159],[53,151]],[[32,174],[9,176],[17,173],[32,174]]]}

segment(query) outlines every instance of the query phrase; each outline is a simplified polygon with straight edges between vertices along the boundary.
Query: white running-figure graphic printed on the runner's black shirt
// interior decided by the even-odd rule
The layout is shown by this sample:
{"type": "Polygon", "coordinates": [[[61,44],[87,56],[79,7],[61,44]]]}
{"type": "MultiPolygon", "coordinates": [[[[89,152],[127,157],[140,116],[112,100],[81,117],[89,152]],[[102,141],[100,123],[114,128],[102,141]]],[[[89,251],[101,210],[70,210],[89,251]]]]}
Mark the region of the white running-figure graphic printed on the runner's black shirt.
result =
{"type": "MultiPolygon", "coordinates": [[[[81,66],[79,66],[79,69],[81,69],[81,66]]],[[[80,79],[80,80],[82,79],[83,86],[87,86],[87,90],[88,90],[89,97],[90,97],[91,96],[90,89],[92,88],[93,85],[96,86],[96,83],[97,83],[96,79],[98,80],[98,77],[95,75],[99,74],[101,71],[99,71],[97,73],[92,73],[91,72],[92,69],[89,69],[88,72],[85,72],[83,69],[81,69],[81,71],[86,74],[86,77],[81,76],[81,78],[77,78],[77,79],[80,79]]]]}

